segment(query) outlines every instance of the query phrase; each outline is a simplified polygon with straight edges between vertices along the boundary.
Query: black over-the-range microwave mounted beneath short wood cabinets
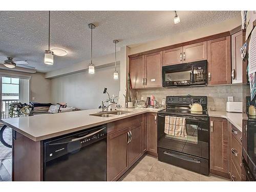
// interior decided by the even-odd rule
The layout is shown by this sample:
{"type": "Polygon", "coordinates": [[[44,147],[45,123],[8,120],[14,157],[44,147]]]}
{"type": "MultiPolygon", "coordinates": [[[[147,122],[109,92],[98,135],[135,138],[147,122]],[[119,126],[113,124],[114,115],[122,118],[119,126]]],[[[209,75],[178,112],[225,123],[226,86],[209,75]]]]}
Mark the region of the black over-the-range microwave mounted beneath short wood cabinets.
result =
{"type": "Polygon", "coordinates": [[[162,67],[163,87],[206,86],[207,60],[162,67]]]}

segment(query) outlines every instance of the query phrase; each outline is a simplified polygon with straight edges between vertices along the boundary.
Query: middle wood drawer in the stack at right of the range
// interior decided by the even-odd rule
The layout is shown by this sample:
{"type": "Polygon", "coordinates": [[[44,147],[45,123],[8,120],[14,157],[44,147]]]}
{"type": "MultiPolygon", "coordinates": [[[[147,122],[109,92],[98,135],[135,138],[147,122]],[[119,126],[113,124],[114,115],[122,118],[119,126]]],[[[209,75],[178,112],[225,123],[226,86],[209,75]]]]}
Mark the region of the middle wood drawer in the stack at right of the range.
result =
{"type": "Polygon", "coordinates": [[[231,136],[231,160],[236,166],[238,173],[241,175],[241,163],[242,163],[242,145],[237,141],[234,136],[231,136]]]}

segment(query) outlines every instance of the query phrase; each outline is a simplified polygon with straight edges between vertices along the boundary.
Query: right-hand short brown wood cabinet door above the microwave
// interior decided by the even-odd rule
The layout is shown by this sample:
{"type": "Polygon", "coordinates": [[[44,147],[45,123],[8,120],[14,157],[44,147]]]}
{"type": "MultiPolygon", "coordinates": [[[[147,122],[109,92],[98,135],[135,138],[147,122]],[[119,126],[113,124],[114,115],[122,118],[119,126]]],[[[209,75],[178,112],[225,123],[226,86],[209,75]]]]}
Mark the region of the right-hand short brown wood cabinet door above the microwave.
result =
{"type": "Polygon", "coordinates": [[[207,41],[183,47],[183,63],[207,60],[207,41]]]}

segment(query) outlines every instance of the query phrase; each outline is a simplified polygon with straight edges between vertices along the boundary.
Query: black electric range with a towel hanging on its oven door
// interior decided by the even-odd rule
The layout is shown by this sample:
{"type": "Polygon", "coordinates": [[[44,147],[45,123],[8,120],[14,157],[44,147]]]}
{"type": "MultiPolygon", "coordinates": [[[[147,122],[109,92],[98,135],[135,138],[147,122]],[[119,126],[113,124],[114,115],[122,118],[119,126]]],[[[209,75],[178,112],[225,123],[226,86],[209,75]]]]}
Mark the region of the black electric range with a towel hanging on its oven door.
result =
{"type": "Polygon", "coordinates": [[[166,109],[158,112],[158,159],[176,166],[209,174],[209,116],[206,96],[167,96],[166,109]],[[202,112],[192,112],[189,104],[201,103],[202,112]],[[168,135],[165,117],[184,117],[187,136],[168,135]]]}

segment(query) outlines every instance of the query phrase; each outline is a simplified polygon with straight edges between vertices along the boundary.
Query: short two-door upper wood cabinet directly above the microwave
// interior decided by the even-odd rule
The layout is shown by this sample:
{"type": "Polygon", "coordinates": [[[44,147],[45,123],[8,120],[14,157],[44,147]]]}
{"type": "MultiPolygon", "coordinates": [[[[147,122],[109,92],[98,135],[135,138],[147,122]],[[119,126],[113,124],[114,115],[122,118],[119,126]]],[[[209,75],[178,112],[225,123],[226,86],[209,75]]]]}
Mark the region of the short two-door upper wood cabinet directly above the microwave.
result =
{"type": "Polygon", "coordinates": [[[207,59],[207,41],[163,51],[163,66],[207,59]]]}

